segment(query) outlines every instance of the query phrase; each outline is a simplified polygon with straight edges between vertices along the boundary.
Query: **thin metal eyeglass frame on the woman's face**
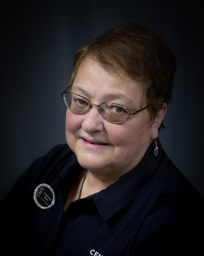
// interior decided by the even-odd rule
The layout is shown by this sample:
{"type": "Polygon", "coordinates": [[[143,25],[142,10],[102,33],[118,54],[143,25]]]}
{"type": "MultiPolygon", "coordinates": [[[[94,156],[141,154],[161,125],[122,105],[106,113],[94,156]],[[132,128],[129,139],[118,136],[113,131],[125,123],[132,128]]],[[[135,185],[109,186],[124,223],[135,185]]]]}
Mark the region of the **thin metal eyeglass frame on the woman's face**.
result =
{"type": "MultiPolygon", "coordinates": [[[[89,102],[89,108],[88,108],[88,110],[86,110],[86,111],[84,111],[84,112],[82,112],[82,113],[79,113],[79,112],[76,112],[76,111],[72,110],[72,109],[66,104],[66,99],[65,99],[65,97],[66,97],[67,94],[72,93],[71,91],[68,91],[69,88],[70,88],[70,87],[68,87],[65,91],[63,91],[63,93],[61,93],[61,97],[63,97],[63,100],[64,100],[64,102],[65,102],[65,105],[66,105],[66,107],[67,107],[69,110],[71,110],[73,113],[77,113],[77,114],[79,114],[79,115],[83,115],[83,114],[85,114],[85,113],[88,113],[88,111],[90,111],[90,110],[93,108],[93,106],[96,106],[96,107],[99,108],[99,112],[100,112],[101,116],[103,117],[103,119],[105,119],[105,120],[108,121],[108,122],[111,122],[111,121],[107,120],[107,119],[103,116],[103,113],[101,112],[101,109],[100,109],[100,106],[101,106],[102,104],[108,103],[109,101],[108,101],[108,102],[102,102],[101,104],[97,105],[97,104],[94,104],[94,103],[90,102],[90,100],[87,99],[86,97],[84,97],[84,96],[82,96],[82,95],[80,95],[80,94],[77,94],[77,93],[73,93],[73,94],[75,94],[75,95],[78,95],[79,97],[82,97],[82,98],[88,100],[88,102],[89,102]]],[[[109,102],[109,103],[116,104],[117,106],[121,106],[121,108],[124,108],[125,111],[127,111],[127,113],[128,113],[127,119],[125,119],[124,121],[121,121],[121,122],[111,122],[112,124],[122,124],[123,122],[125,122],[125,121],[128,120],[128,118],[130,117],[130,115],[135,115],[136,113],[139,113],[140,111],[145,110],[145,109],[150,105],[150,104],[147,104],[147,106],[145,106],[144,108],[141,108],[141,109],[136,110],[136,111],[131,111],[131,110],[129,110],[126,106],[123,106],[123,105],[121,105],[121,104],[117,104],[117,103],[114,103],[114,102],[109,102]]]]}

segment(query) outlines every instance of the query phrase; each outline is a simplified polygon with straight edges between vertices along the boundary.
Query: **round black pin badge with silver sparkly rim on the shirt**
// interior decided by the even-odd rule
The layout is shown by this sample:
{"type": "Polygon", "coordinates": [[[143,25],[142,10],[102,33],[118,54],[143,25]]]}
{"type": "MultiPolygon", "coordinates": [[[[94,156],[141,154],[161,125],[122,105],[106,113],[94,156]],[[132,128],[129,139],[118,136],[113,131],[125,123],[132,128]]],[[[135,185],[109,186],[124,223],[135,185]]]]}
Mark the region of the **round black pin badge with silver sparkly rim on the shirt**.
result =
{"type": "Polygon", "coordinates": [[[50,209],[56,201],[56,195],[50,185],[42,183],[34,191],[34,201],[41,209],[50,209]]]}

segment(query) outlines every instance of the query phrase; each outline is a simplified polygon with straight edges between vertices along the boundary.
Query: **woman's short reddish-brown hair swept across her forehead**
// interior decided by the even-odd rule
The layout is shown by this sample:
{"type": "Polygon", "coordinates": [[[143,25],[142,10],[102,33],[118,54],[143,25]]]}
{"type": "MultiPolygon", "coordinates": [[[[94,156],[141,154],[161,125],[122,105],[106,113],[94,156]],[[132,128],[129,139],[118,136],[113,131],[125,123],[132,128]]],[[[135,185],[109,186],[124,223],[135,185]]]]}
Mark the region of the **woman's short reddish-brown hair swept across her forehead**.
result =
{"type": "MultiPolygon", "coordinates": [[[[152,120],[163,102],[169,104],[172,100],[176,56],[163,38],[148,27],[138,23],[118,25],[79,49],[74,56],[69,86],[87,57],[94,58],[109,71],[117,73],[119,68],[130,78],[145,82],[152,120]]],[[[163,123],[161,126],[165,127],[163,123]]]]}

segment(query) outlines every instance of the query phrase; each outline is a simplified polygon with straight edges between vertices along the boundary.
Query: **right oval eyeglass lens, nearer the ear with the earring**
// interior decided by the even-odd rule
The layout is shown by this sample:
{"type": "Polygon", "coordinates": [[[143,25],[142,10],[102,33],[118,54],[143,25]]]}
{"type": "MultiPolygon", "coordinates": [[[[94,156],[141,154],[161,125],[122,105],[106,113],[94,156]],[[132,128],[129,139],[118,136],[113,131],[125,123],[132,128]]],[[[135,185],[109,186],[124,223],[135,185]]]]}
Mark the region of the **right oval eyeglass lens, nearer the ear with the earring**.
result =
{"type": "Polygon", "coordinates": [[[115,124],[119,124],[128,119],[129,113],[123,108],[123,106],[113,104],[113,103],[104,103],[100,105],[101,115],[108,121],[115,124]]]}

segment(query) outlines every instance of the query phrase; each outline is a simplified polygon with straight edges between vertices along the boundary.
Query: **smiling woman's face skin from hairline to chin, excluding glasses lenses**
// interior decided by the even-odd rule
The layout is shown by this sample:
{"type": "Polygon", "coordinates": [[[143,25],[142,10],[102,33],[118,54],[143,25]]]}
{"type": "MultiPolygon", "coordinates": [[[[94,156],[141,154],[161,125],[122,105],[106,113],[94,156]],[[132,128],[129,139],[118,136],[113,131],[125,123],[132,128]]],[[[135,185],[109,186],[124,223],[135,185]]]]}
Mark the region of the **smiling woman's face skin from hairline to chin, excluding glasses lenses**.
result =
{"type": "MultiPolygon", "coordinates": [[[[130,110],[139,110],[143,84],[124,73],[106,71],[98,62],[87,58],[79,67],[72,92],[94,104],[114,102],[130,110]]],[[[154,134],[147,109],[130,115],[121,124],[103,119],[94,106],[88,113],[66,110],[66,141],[84,169],[98,176],[119,178],[138,165],[154,134]]]]}

